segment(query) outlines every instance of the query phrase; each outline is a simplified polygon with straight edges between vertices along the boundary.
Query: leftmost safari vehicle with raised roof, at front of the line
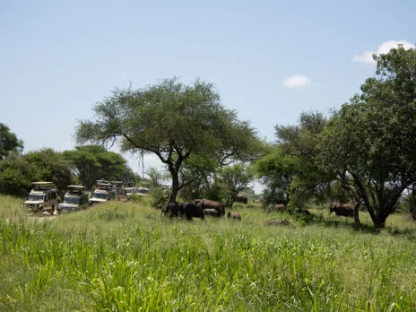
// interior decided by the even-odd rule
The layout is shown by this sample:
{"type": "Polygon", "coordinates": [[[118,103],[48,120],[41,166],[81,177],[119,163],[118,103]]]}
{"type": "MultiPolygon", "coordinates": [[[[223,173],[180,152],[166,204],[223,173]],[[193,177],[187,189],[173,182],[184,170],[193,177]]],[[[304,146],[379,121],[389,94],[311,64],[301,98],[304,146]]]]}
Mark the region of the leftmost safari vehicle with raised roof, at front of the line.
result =
{"type": "Polygon", "coordinates": [[[54,215],[59,200],[56,188],[53,186],[52,182],[33,182],[32,185],[33,188],[22,206],[24,206],[28,212],[39,214],[48,212],[50,215],[54,215]]]}

